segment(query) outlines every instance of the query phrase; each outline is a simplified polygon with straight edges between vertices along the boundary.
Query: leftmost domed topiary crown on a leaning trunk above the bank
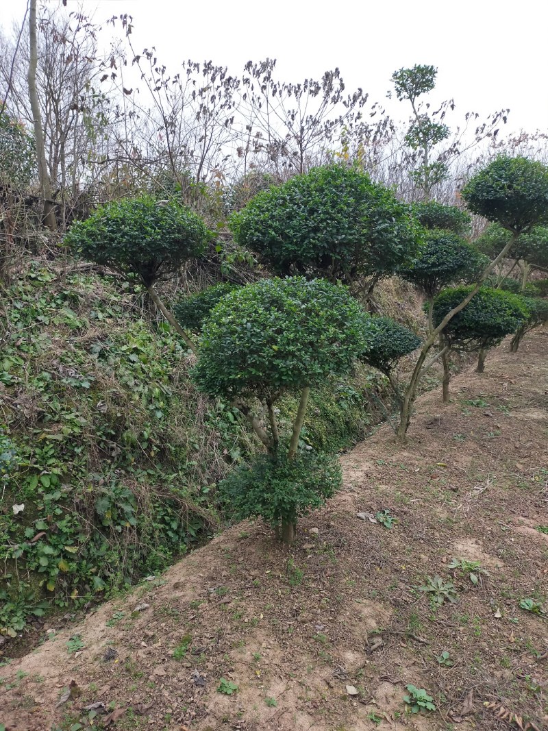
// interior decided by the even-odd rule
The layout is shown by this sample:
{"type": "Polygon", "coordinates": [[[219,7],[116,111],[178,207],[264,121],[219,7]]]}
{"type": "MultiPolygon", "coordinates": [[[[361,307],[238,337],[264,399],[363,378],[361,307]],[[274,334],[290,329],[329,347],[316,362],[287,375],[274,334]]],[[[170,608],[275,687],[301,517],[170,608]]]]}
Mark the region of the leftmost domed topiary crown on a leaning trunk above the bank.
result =
{"type": "Polygon", "coordinates": [[[64,240],[80,257],[149,287],[202,254],[212,237],[204,221],[175,199],[143,196],[100,206],[72,224],[64,240]]]}

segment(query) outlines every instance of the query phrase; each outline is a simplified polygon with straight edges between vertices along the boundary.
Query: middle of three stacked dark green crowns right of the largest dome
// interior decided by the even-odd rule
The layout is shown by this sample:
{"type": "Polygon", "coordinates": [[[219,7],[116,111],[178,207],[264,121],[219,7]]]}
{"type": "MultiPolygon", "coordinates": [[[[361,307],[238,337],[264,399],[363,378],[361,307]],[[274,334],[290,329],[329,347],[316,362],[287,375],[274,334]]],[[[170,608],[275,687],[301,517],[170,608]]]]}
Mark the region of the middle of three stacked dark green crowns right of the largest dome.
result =
{"type": "Polygon", "coordinates": [[[471,282],[487,266],[484,257],[471,244],[451,231],[430,230],[419,256],[408,268],[400,270],[403,279],[416,284],[428,297],[459,281],[471,282]]]}

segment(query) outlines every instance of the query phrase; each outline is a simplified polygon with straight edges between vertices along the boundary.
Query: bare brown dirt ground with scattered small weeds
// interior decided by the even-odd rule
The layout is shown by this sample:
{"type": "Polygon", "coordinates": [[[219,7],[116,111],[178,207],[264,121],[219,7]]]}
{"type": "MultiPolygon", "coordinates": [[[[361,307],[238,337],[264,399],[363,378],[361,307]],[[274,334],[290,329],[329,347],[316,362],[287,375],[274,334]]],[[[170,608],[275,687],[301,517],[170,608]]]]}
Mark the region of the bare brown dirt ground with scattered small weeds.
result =
{"type": "Polygon", "coordinates": [[[343,455],[343,491],[291,549],[243,523],[80,625],[53,623],[0,668],[0,724],[547,728],[548,332],[451,390],[447,406],[419,399],[408,444],[385,426],[343,455]],[[390,529],[372,522],[384,510],[390,529]],[[408,684],[435,711],[412,713],[408,684]]]}

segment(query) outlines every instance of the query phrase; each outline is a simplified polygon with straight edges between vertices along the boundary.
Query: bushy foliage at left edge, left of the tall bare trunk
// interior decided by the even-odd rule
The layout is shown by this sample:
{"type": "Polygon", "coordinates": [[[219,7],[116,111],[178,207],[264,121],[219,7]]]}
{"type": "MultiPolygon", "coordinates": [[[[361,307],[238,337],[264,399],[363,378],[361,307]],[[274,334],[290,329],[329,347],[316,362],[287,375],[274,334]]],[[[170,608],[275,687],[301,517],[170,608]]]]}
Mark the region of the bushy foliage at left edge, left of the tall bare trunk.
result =
{"type": "Polygon", "coordinates": [[[0,182],[25,189],[35,173],[34,137],[4,109],[0,115],[0,182]]]}

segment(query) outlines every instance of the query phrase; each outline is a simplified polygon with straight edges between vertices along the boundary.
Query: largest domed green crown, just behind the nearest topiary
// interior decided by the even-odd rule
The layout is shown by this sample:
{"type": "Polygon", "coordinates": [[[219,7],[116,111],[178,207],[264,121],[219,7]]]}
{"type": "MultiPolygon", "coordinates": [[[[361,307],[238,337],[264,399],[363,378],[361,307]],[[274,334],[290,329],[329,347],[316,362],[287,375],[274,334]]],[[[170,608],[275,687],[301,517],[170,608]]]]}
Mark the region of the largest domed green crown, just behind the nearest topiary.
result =
{"type": "Polygon", "coordinates": [[[331,281],[393,273],[419,246],[410,208],[342,166],[317,167],[259,193],[229,224],[237,243],[275,273],[331,281]]]}

